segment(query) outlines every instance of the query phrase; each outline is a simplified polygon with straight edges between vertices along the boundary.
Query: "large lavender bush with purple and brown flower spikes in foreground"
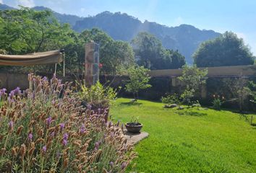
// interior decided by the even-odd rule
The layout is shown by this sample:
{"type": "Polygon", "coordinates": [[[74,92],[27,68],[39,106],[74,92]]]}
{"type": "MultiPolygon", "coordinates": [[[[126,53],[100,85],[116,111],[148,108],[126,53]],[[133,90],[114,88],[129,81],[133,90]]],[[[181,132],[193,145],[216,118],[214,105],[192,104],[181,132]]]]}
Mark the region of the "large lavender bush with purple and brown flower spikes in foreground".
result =
{"type": "Polygon", "coordinates": [[[0,91],[0,172],[124,172],[135,153],[119,128],[82,110],[69,83],[28,79],[0,91]]]}

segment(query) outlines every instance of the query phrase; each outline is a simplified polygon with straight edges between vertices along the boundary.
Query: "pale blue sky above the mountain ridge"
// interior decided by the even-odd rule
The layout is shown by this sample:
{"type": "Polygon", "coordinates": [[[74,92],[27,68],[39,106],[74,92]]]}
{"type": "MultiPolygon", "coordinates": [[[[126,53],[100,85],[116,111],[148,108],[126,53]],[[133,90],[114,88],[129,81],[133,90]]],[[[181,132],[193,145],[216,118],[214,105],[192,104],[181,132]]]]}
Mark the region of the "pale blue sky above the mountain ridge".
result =
{"type": "Polygon", "coordinates": [[[169,27],[181,24],[216,32],[232,31],[256,55],[256,0],[0,0],[9,6],[46,6],[55,12],[94,16],[109,11],[169,27]]]}

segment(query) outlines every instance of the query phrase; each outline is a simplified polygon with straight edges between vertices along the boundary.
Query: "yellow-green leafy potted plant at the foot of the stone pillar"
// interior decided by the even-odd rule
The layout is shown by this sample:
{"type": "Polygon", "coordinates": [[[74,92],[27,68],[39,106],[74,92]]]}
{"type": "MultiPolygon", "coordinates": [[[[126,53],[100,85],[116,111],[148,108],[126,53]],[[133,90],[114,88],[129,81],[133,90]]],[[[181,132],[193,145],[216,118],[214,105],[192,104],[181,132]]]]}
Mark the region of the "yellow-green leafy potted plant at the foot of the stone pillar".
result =
{"type": "Polygon", "coordinates": [[[79,95],[82,101],[93,109],[108,108],[114,104],[116,99],[116,91],[110,86],[104,88],[99,81],[90,87],[81,85],[81,89],[79,95]]]}

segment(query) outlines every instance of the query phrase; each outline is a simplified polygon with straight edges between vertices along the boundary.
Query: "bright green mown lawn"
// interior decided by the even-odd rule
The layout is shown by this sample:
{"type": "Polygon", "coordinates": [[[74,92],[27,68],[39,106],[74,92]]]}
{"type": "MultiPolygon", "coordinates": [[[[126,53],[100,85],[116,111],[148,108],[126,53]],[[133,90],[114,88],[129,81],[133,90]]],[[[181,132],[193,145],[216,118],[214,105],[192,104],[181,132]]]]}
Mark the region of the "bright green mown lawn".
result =
{"type": "Polygon", "coordinates": [[[118,99],[114,120],[139,116],[150,136],[135,150],[135,172],[256,172],[256,128],[229,111],[164,109],[118,99]]]}

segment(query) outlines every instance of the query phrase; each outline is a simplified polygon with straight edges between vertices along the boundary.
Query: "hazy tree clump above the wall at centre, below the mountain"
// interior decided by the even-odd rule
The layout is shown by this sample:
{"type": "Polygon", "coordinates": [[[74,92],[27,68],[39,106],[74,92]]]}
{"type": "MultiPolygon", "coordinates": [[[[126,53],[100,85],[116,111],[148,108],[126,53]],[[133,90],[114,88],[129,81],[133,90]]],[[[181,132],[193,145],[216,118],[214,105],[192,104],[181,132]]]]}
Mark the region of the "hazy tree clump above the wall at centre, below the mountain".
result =
{"type": "Polygon", "coordinates": [[[184,56],[177,50],[166,50],[161,41],[148,32],[140,32],[132,40],[132,46],[139,66],[155,70],[181,68],[185,64],[184,56]]]}

